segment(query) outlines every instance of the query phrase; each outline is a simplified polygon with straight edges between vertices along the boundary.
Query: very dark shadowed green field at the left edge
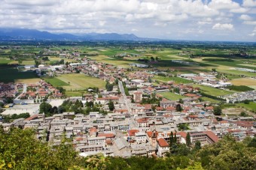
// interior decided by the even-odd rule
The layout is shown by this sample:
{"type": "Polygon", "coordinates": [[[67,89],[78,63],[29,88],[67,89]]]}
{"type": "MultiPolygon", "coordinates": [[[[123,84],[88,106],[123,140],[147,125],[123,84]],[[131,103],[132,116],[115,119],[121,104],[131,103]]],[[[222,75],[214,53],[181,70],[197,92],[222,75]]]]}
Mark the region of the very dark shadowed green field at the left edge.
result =
{"type": "Polygon", "coordinates": [[[0,82],[15,82],[21,79],[34,79],[38,78],[33,72],[19,72],[13,67],[1,67],[0,66],[0,82]]]}

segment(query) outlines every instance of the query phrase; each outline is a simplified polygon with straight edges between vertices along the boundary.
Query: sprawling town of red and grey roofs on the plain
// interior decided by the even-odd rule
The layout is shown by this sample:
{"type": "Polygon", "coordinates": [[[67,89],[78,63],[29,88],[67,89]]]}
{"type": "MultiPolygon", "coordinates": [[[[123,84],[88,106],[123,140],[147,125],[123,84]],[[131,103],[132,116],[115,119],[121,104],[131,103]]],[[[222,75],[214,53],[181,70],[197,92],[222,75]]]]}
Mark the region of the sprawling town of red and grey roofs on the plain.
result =
{"type": "MultiPolygon", "coordinates": [[[[2,46],[12,48],[20,46],[2,46]]],[[[43,48],[35,64],[14,63],[15,70],[38,76],[34,82],[0,83],[0,126],[5,131],[32,128],[49,145],[59,145],[65,136],[84,157],[165,157],[172,138],[178,144],[204,146],[227,134],[237,141],[255,136],[256,109],[239,107],[235,115],[228,110],[253,104],[256,91],[233,85],[216,69],[177,73],[175,67],[152,67],[160,58],[142,61],[142,55],[134,58],[145,64],[131,61],[122,67],[93,60],[98,54],[75,47],[54,49],[43,48]]]]}

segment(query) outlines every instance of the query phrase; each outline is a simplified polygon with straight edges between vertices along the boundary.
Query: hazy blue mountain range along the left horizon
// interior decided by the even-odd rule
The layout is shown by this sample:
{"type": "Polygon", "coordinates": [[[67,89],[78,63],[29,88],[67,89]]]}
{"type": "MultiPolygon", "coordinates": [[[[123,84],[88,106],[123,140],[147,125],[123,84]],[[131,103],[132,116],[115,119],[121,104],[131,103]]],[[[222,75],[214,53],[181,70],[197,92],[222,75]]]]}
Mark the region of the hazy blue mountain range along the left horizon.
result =
{"type": "Polygon", "coordinates": [[[53,34],[26,28],[0,28],[0,40],[157,40],[137,37],[135,34],[90,33],[83,35],[53,34]]]}

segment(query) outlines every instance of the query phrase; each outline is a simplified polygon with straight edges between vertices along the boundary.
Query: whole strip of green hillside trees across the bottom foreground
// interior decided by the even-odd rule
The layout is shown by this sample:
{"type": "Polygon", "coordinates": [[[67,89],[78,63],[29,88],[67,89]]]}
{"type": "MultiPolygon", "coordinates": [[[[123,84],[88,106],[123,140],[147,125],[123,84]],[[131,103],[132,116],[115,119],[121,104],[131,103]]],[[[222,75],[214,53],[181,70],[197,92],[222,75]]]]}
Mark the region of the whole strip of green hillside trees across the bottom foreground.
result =
{"type": "Polygon", "coordinates": [[[225,136],[215,145],[187,148],[179,145],[169,157],[79,157],[63,139],[49,146],[35,139],[33,130],[0,128],[0,169],[256,169],[256,139],[236,142],[225,136]]]}

